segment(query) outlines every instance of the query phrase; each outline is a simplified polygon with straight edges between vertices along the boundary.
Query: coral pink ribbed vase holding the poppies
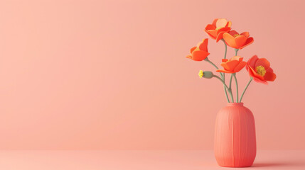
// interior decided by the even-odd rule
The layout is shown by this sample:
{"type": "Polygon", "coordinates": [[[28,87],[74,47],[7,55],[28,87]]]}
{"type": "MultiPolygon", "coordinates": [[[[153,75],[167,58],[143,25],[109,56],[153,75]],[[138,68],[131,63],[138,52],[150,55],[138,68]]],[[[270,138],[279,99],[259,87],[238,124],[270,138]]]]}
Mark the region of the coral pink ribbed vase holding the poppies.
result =
{"type": "Polygon", "coordinates": [[[243,103],[228,103],[217,115],[215,158],[220,166],[252,166],[256,156],[255,120],[243,103]]]}

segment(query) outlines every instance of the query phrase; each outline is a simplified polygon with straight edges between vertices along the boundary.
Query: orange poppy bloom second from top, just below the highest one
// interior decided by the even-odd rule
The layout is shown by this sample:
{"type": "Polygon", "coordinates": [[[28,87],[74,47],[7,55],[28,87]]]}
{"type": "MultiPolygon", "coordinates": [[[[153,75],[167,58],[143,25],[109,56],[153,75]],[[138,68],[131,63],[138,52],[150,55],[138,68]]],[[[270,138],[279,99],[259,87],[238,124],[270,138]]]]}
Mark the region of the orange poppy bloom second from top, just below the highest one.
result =
{"type": "Polygon", "coordinates": [[[254,41],[253,38],[249,36],[248,32],[239,34],[235,30],[231,30],[229,33],[223,33],[223,40],[225,40],[225,43],[230,47],[242,49],[247,45],[252,44],[254,41]]]}

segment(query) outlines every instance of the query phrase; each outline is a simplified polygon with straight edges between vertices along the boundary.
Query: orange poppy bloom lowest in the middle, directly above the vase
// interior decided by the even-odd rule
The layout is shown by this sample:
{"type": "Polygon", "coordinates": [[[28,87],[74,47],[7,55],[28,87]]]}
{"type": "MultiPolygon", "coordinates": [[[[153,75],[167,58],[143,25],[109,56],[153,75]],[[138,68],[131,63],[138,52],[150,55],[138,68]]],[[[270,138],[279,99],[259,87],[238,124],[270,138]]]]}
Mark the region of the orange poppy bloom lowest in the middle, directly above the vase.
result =
{"type": "Polygon", "coordinates": [[[240,72],[242,68],[245,67],[247,62],[242,61],[243,58],[240,56],[234,56],[230,60],[223,59],[223,62],[220,64],[224,69],[218,69],[216,72],[224,73],[235,73],[240,72]]]}

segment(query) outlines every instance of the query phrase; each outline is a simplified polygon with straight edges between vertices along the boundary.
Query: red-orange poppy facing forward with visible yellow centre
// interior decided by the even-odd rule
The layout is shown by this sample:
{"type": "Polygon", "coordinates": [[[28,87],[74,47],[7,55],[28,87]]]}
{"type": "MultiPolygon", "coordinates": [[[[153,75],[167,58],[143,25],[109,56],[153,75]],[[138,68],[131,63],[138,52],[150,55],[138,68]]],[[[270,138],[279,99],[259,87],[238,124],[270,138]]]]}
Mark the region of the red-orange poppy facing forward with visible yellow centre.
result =
{"type": "Polygon", "coordinates": [[[247,62],[246,66],[250,77],[253,77],[255,81],[262,84],[268,84],[267,81],[274,81],[277,75],[273,73],[273,69],[270,67],[270,63],[265,58],[258,58],[254,55],[247,62]]]}

